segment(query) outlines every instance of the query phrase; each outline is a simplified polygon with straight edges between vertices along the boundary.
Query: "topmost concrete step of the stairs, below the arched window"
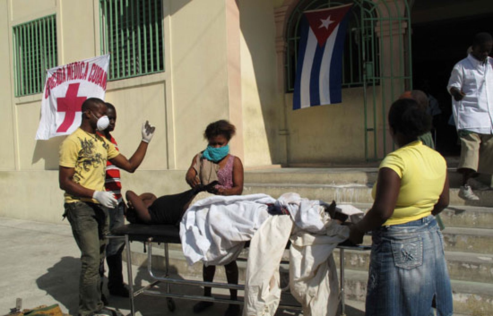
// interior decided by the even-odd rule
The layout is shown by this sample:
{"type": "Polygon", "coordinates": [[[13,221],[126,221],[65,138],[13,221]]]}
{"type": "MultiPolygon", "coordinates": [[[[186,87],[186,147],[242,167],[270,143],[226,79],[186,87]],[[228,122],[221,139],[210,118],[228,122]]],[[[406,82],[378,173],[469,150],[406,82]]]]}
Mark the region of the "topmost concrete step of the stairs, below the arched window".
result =
{"type": "MultiPolygon", "coordinates": [[[[449,168],[451,188],[458,188],[461,175],[456,168],[449,168]]],[[[376,167],[334,167],[334,168],[273,168],[245,171],[248,184],[320,184],[320,185],[367,185],[376,182],[376,167]]],[[[488,181],[488,179],[482,179],[488,181]]]]}

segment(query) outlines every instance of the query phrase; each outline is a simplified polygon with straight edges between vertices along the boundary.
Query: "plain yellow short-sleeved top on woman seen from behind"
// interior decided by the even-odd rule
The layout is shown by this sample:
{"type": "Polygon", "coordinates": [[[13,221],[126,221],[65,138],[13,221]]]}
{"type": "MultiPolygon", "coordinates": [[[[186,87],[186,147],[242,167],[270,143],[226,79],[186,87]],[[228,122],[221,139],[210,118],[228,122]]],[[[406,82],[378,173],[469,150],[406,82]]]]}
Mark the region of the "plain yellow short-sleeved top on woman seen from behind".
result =
{"type": "MultiPolygon", "coordinates": [[[[421,141],[415,141],[388,154],[379,169],[384,167],[394,170],[401,178],[394,212],[384,225],[403,224],[430,215],[445,184],[445,158],[421,141]]],[[[372,190],[374,199],[376,187],[377,183],[372,190]]]]}

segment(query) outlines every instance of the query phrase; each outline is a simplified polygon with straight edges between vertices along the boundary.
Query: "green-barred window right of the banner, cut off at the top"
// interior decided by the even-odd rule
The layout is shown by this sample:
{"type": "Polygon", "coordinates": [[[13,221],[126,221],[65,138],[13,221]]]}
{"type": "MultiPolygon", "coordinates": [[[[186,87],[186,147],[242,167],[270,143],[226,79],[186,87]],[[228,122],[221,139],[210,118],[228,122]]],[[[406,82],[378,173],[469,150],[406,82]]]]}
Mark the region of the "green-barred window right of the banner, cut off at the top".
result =
{"type": "Polygon", "coordinates": [[[100,0],[100,30],[108,80],[164,71],[162,0],[100,0]]]}

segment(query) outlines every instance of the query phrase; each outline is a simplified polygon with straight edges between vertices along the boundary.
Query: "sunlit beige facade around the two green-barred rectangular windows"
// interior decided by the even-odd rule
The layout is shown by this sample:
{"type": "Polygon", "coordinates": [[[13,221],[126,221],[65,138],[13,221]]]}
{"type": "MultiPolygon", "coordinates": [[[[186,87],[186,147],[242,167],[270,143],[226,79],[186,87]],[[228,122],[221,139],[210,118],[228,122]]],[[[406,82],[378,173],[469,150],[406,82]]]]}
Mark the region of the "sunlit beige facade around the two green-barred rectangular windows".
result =
{"type": "MultiPolygon", "coordinates": [[[[156,126],[139,170],[122,172],[124,190],[156,195],[187,188],[185,170],[207,145],[205,127],[230,117],[226,2],[163,0],[163,6],[165,71],[108,82],[106,91],[117,109],[113,134],[122,154],[134,153],[142,122],[156,126]]],[[[0,186],[9,193],[0,196],[0,216],[58,222],[63,214],[58,148],[64,137],[36,141],[41,95],[14,97],[12,86],[12,27],[53,13],[58,64],[101,54],[98,0],[0,1],[0,186]]]]}

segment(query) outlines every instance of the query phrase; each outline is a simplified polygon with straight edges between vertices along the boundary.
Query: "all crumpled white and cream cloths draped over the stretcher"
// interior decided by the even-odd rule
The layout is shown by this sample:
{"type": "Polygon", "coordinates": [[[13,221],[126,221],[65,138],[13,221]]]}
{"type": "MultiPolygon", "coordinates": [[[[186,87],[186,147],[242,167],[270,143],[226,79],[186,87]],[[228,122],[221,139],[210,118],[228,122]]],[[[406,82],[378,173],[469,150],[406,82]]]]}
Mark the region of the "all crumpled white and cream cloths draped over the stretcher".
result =
{"type": "MultiPolygon", "coordinates": [[[[349,237],[349,227],[333,221],[327,203],[285,193],[277,201],[265,194],[212,196],[184,214],[180,237],[189,264],[224,265],[235,260],[251,239],[245,282],[244,315],[274,315],[279,306],[279,264],[288,238],[290,289],[305,316],[335,315],[339,283],[333,249],[349,237]],[[270,216],[266,203],[290,215],[270,216]]],[[[363,212],[337,207],[357,220],[363,212]]]]}

